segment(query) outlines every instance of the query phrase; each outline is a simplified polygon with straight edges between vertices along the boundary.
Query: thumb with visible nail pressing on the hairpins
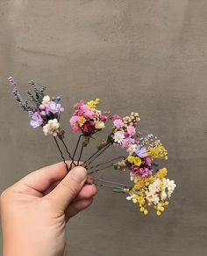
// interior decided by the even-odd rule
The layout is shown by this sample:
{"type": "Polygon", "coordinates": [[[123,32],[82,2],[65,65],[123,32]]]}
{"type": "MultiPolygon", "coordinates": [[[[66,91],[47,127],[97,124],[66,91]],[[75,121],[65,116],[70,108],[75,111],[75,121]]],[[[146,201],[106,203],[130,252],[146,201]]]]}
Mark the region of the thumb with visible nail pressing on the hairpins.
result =
{"type": "Polygon", "coordinates": [[[73,168],[54,190],[46,197],[54,203],[55,208],[65,211],[69,203],[79,193],[87,179],[88,172],[82,166],[73,168]]]}

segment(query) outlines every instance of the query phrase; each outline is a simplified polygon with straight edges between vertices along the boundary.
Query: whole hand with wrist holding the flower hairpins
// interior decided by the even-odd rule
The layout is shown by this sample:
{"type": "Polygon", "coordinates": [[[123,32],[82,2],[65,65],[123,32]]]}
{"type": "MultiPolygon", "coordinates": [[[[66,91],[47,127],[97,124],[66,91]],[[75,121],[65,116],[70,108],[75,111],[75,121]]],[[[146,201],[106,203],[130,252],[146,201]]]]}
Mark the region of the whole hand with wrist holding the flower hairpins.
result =
{"type": "Polygon", "coordinates": [[[89,207],[96,194],[95,185],[84,185],[86,179],[83,167],[67,174],[66,166],[59,163],[7,188],[1,195],[4,256],[66,253],[68,219],[89,207]]]}

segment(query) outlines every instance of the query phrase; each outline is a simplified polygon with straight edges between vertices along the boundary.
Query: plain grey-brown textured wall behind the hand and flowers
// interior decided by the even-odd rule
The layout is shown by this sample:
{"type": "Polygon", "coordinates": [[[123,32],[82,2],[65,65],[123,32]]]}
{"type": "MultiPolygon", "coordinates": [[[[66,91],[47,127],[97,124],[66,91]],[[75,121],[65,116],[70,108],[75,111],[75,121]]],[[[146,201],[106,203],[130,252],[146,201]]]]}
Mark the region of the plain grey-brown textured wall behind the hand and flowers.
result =
{"type": "Polygon", "coordinates": [[[100,97],[106,110],[138,111],[140,130],[168,148],[177,188],[163,216],[142,216],[125,195],[99,189],[69,223],[71,256],[206,255],[207,1],[1,0],[1,190],[60,161],[12,99],[10,75],[22,91],[34,79],[60,94],[65,127],[73,103],[100,97]]]}

